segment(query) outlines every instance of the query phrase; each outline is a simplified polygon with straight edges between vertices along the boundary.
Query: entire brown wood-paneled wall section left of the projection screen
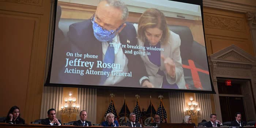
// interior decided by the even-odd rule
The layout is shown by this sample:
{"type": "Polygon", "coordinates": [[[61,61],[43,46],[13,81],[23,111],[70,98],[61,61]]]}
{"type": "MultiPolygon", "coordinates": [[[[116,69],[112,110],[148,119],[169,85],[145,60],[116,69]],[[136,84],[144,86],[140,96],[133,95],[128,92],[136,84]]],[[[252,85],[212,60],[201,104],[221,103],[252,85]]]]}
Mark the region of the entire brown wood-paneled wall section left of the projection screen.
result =
{"type": "Polygon", "coordinates": [[[6,116],[11,106],[18,105],[26,122],[39,118],[49,14],[50,0],[0,1],[1,48],[6,49],[1,50],[1,66],[7,69],[0,73],[1,91],[8,93],[1,97],[9,100],[0,116],[6,116]]]}

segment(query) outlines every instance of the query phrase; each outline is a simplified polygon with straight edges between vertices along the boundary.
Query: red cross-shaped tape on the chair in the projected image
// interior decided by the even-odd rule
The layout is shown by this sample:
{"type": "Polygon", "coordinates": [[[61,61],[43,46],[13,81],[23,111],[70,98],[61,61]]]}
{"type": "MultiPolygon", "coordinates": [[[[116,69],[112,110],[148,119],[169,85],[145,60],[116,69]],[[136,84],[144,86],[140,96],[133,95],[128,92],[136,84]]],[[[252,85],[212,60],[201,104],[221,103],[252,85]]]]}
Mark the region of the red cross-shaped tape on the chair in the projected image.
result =
{"type": "Polygon", "coordinates": [[[206,70],[203,70],[200,68],[196,68],[196,65],[193,60],[188,60],[188,65],[182,64],[182,67],[191,70],[191,75],[192,75],[192,79],[193,79],[193,83],[194,83],[195,87],[202,89],[203,87],[202,87],[202,83],[200,81],[198,72],[203,72],[203,73],[209,75],[209,71],[206,71],[206,70]]]}

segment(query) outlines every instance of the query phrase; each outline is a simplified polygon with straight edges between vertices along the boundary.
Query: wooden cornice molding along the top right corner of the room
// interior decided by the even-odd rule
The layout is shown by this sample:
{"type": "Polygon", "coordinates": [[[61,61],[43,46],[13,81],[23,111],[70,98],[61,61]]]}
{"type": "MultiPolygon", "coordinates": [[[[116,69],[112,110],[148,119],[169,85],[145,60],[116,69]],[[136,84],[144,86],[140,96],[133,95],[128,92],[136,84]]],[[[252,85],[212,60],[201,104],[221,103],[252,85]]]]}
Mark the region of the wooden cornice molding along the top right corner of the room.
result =
{"type": "Polygon", "coordinates": [[[203,6],[237,12],[256,12],[256,5],[234,3],[227,0],[203,0],[203,6]]]}

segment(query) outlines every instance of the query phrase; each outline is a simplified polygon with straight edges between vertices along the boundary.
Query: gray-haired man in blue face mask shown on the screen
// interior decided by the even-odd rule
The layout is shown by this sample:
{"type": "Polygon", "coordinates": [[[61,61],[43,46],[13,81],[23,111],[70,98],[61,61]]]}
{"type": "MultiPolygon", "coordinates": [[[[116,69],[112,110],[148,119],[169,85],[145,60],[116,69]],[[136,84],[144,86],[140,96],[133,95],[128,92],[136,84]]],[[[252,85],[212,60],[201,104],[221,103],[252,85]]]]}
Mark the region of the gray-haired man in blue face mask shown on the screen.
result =
{"type": "Polygon", "coordinates": [[[83,61],[92,62],[94,65],[76,67],[76,69],[84,69],[83,76],[65,74],[75,76],[68,79],[67,83],[154,87],[148,80],[140,56],[127,53],[131,50],[127,48],[128,45],[137,45],[135,28],[131,23],[125,22],[127,17],[128,8],[123,2],[102,0],[90,19],[69,26],[67,36],[71,52],[89,53],[98,57],[83,58],[83,61]],[[110,66],[104,68],[103,63],[110,66]],[[89,74],[87,71],[90,71],[89,74]],[[98,71],[98,74],[95,74],[95,71],[98,71]],[[99,74],[100,72],[109,72],[109,74],[102,75],[99,74]]]}

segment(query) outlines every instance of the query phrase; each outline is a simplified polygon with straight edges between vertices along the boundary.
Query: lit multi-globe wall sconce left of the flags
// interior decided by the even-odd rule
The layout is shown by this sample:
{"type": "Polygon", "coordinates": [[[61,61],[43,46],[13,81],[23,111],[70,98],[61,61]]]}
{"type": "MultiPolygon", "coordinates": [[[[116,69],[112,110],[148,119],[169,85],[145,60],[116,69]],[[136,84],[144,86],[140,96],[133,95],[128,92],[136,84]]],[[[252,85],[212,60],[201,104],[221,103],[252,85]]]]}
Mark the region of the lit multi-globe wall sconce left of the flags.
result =
{"type": "Polygon", "coordinates": [[[68,97],[64,98],[65,104],[61,106],[61,113],[68,114],[79,114],[79,105],[76,104],[76,98],[72,97],[72,93],[68,94],[68,97]]]}

